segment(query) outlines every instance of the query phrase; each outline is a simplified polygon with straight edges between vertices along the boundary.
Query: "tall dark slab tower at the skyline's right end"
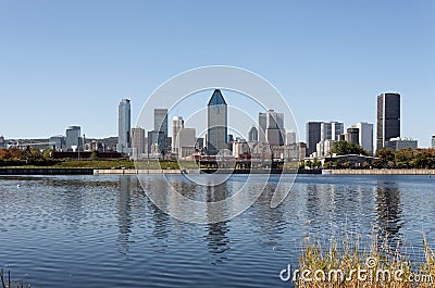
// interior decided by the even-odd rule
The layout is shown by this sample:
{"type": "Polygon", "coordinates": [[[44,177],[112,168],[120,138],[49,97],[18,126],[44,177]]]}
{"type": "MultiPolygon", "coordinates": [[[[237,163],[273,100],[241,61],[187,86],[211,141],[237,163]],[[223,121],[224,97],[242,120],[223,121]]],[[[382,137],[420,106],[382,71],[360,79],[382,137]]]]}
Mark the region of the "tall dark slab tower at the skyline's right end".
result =
{"type": "Polygon", "coordinates": [[[400,95],[377,96],[376,149],[386,146],[391,138],[400,137],[400,95]]]}

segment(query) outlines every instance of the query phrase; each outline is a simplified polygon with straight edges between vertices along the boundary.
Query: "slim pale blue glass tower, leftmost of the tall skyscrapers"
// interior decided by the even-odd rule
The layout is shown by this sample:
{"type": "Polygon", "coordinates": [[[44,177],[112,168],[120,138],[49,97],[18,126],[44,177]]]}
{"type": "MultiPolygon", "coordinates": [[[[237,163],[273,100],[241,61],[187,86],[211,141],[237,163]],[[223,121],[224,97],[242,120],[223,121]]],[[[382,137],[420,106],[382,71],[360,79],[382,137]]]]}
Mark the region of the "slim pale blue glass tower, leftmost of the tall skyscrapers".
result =
{"type": "Polygon", "coordinates": [[[132,107],[129,99],[122,99],[117,105],[117,145],[116,151],[126,152],[130,148],[132,107]]]}

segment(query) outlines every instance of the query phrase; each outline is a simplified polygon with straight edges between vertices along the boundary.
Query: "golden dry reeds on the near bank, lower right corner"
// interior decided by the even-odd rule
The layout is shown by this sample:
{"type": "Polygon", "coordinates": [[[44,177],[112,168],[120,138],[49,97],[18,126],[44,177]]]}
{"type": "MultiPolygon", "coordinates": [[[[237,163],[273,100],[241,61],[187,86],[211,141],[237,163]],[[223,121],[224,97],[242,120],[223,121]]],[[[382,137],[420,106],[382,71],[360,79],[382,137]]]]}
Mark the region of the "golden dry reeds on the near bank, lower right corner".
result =
{"type": "MultiPolygon", "coordinates": [[[[376,239],[376,237],[373,237],[376,239]]],[[[299,272],[294,277],[296,287],[321,288],[413,288],[435,287],[435,253],[424,238],[425,262],[412,266],[407,255],[391,248],[385,237],[374,240],[365,250],[358,239],[337,242],[332,239],[326,249],[320,242],[307,241],[299,259],[299,272]],[[361,252],[363,251],[363,252],[361,252]],[[306,272],[303,272],[306,271],[306,272]],[[304,274],[310,272],[310,274],[304,274]],[[418,280],[417,277],[420,277],[418,280]]],[[[293,275],[293,276],[294,276],[293,275]]]]}

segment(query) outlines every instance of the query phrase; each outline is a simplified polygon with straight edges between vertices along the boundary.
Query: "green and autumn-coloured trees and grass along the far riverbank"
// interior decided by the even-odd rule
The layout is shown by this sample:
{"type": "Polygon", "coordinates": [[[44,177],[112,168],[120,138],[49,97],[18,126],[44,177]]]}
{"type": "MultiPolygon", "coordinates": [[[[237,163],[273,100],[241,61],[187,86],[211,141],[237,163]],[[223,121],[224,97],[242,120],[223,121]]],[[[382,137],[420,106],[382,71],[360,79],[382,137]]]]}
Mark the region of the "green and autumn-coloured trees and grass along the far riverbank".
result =
{"type": "MultiPolygon", "coordinates": [[[[97,151],[92,152],[89,159],[83,160],[72,160],[63,159],[55,160],[52,158],[52,149],[48,148],[40,150],[37,148],[27,149],[0,149],[0,167],[3,166],[20,166],[20,167],[86,167],[86,168],[135,168],[134,161],[128,158],[123,159],[108,159],[103,160],[99,158],[97,151]]],[[[338,141],[334,143],[331,154],[345,155],[345,154],[363,154],[369,155],[362,147],[347,142],[338,141]]],[[[393,152],[389,148],[381,148],[375,153],[375,159],[373,163],[364,163],[362,168],[435,168],[435,149],[411,149],[406,148],[399,151],[393,152]]],[[[188,167],[191,165],[190,162],[185,164],[181,163],[183,167],[188,167]],[[189,164],[190,163],[190,164],[189,164]]],[[[347,168],[347,163],[341,163],[339,160],[337,163],[327,162],[325,163],[325,168],[330,168],[331,165],[337,168],[347,168]]],[[[309,166],[310,168],[320,167],[320,160],[314,159],[314,161],[301,162],[299,168],[309,166]]],[[[296,166],[286,166],[295,168],[296,166]]],[[[175,160],[160,160],[159,162],[153,161],[140,161],[140,168],[174,168],[178,170],[178,162],[175,160]]]]}

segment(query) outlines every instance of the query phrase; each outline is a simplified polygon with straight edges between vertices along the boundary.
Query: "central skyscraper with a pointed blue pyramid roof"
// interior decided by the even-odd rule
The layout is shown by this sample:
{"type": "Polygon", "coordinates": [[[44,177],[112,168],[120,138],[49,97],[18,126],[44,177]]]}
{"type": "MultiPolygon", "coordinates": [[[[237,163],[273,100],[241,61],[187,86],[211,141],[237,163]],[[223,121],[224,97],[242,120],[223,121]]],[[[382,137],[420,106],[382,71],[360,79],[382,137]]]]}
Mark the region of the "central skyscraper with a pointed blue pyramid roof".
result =
{"type": "Polygon", "coordinates": [[[215,89],[208,104],[207,151],[211,155],[226,149],[228,115],[227,105],[220,89],[215,89]]]}

